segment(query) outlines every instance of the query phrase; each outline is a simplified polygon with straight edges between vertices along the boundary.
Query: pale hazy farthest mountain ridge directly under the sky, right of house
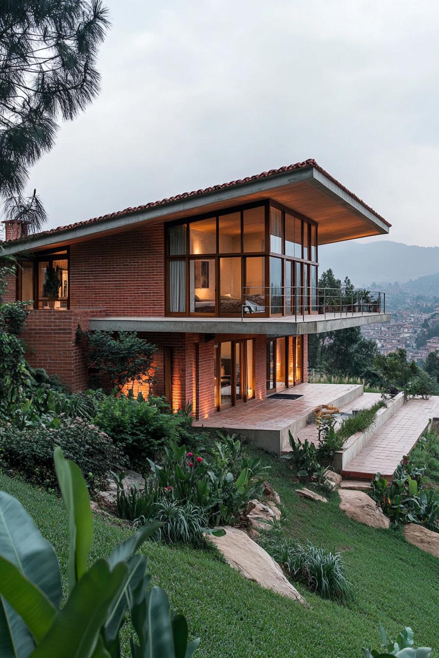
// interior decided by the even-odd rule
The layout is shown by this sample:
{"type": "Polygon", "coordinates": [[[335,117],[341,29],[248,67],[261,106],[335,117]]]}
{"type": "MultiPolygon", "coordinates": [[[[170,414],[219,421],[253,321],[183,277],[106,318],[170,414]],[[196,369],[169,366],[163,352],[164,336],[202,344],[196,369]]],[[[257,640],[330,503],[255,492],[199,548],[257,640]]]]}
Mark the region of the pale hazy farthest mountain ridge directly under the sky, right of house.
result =
{"type": "Polygon", "coordinates": [[[388,240],[364,243],[348,240],[321,245],[319,262],[320,272],[332,267],[338,278],[349,276],[355,286],[406,282],[439,272],[439,247],[388,240]]]}

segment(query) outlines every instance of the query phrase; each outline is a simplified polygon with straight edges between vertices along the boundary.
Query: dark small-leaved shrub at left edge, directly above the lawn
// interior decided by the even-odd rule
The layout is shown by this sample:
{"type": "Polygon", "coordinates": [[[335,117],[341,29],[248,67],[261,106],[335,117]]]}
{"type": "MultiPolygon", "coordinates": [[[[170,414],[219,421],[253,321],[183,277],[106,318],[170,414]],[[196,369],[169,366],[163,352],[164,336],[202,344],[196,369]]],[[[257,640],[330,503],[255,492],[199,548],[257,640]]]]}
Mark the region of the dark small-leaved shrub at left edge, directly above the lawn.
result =
{"type": "Polygon", "coordinates": [[[61,417],[56,426],[40,424],[17,430],[11,424],[0,426],[0,460],[32,482],[56,486],[53,449],[61,447],[74,459],[91,489],[99,487],[110,470],[124,468],[120,451],[99,428],[80,418],[61,417]]]}

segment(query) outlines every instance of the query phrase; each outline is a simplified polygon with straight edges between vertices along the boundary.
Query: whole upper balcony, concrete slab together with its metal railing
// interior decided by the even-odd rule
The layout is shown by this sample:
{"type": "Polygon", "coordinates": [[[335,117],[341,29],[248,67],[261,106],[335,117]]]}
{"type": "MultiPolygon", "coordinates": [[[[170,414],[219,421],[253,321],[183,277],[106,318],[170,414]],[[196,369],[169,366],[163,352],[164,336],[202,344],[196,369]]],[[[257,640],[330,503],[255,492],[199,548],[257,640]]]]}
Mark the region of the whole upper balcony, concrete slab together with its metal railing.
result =
{"type": "Polygon", "coordinates": [[[232,317],[101,317],[90,319],[91,330],[266,334],[300,336],[386,322],[386,295],[380,291],[315,288],[244,288],[232,317]]]}

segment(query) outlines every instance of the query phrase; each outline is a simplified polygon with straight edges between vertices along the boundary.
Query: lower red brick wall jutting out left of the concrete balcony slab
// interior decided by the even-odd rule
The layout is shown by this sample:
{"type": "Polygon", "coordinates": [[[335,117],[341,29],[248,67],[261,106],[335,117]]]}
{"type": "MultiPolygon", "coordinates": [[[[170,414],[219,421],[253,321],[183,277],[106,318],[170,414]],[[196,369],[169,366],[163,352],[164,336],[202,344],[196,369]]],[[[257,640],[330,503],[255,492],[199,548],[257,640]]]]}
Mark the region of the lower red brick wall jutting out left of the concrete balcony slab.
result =
{"type": "Polygon", "coordinates": [[[30,311],[22,338],[26,359],[34,368],[57,374],[72,392],[88,388],[84,351],[76,345],[76,328],[88,329],[91,316],[105,315],[96,309],[83,311],[30,311]]]}

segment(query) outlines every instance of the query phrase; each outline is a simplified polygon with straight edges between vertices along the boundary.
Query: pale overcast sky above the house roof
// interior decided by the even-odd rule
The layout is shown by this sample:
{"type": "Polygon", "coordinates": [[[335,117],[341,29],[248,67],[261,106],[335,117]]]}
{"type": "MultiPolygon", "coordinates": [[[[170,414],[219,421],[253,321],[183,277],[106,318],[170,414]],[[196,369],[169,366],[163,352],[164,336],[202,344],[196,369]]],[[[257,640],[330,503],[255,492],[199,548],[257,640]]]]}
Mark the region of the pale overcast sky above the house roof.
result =
{"type": "Polygon", "coordinates": [[[437,0],[107,0],[99,99],[32,170],[59,226],[317,160],[439,245],[437,0]]]}

